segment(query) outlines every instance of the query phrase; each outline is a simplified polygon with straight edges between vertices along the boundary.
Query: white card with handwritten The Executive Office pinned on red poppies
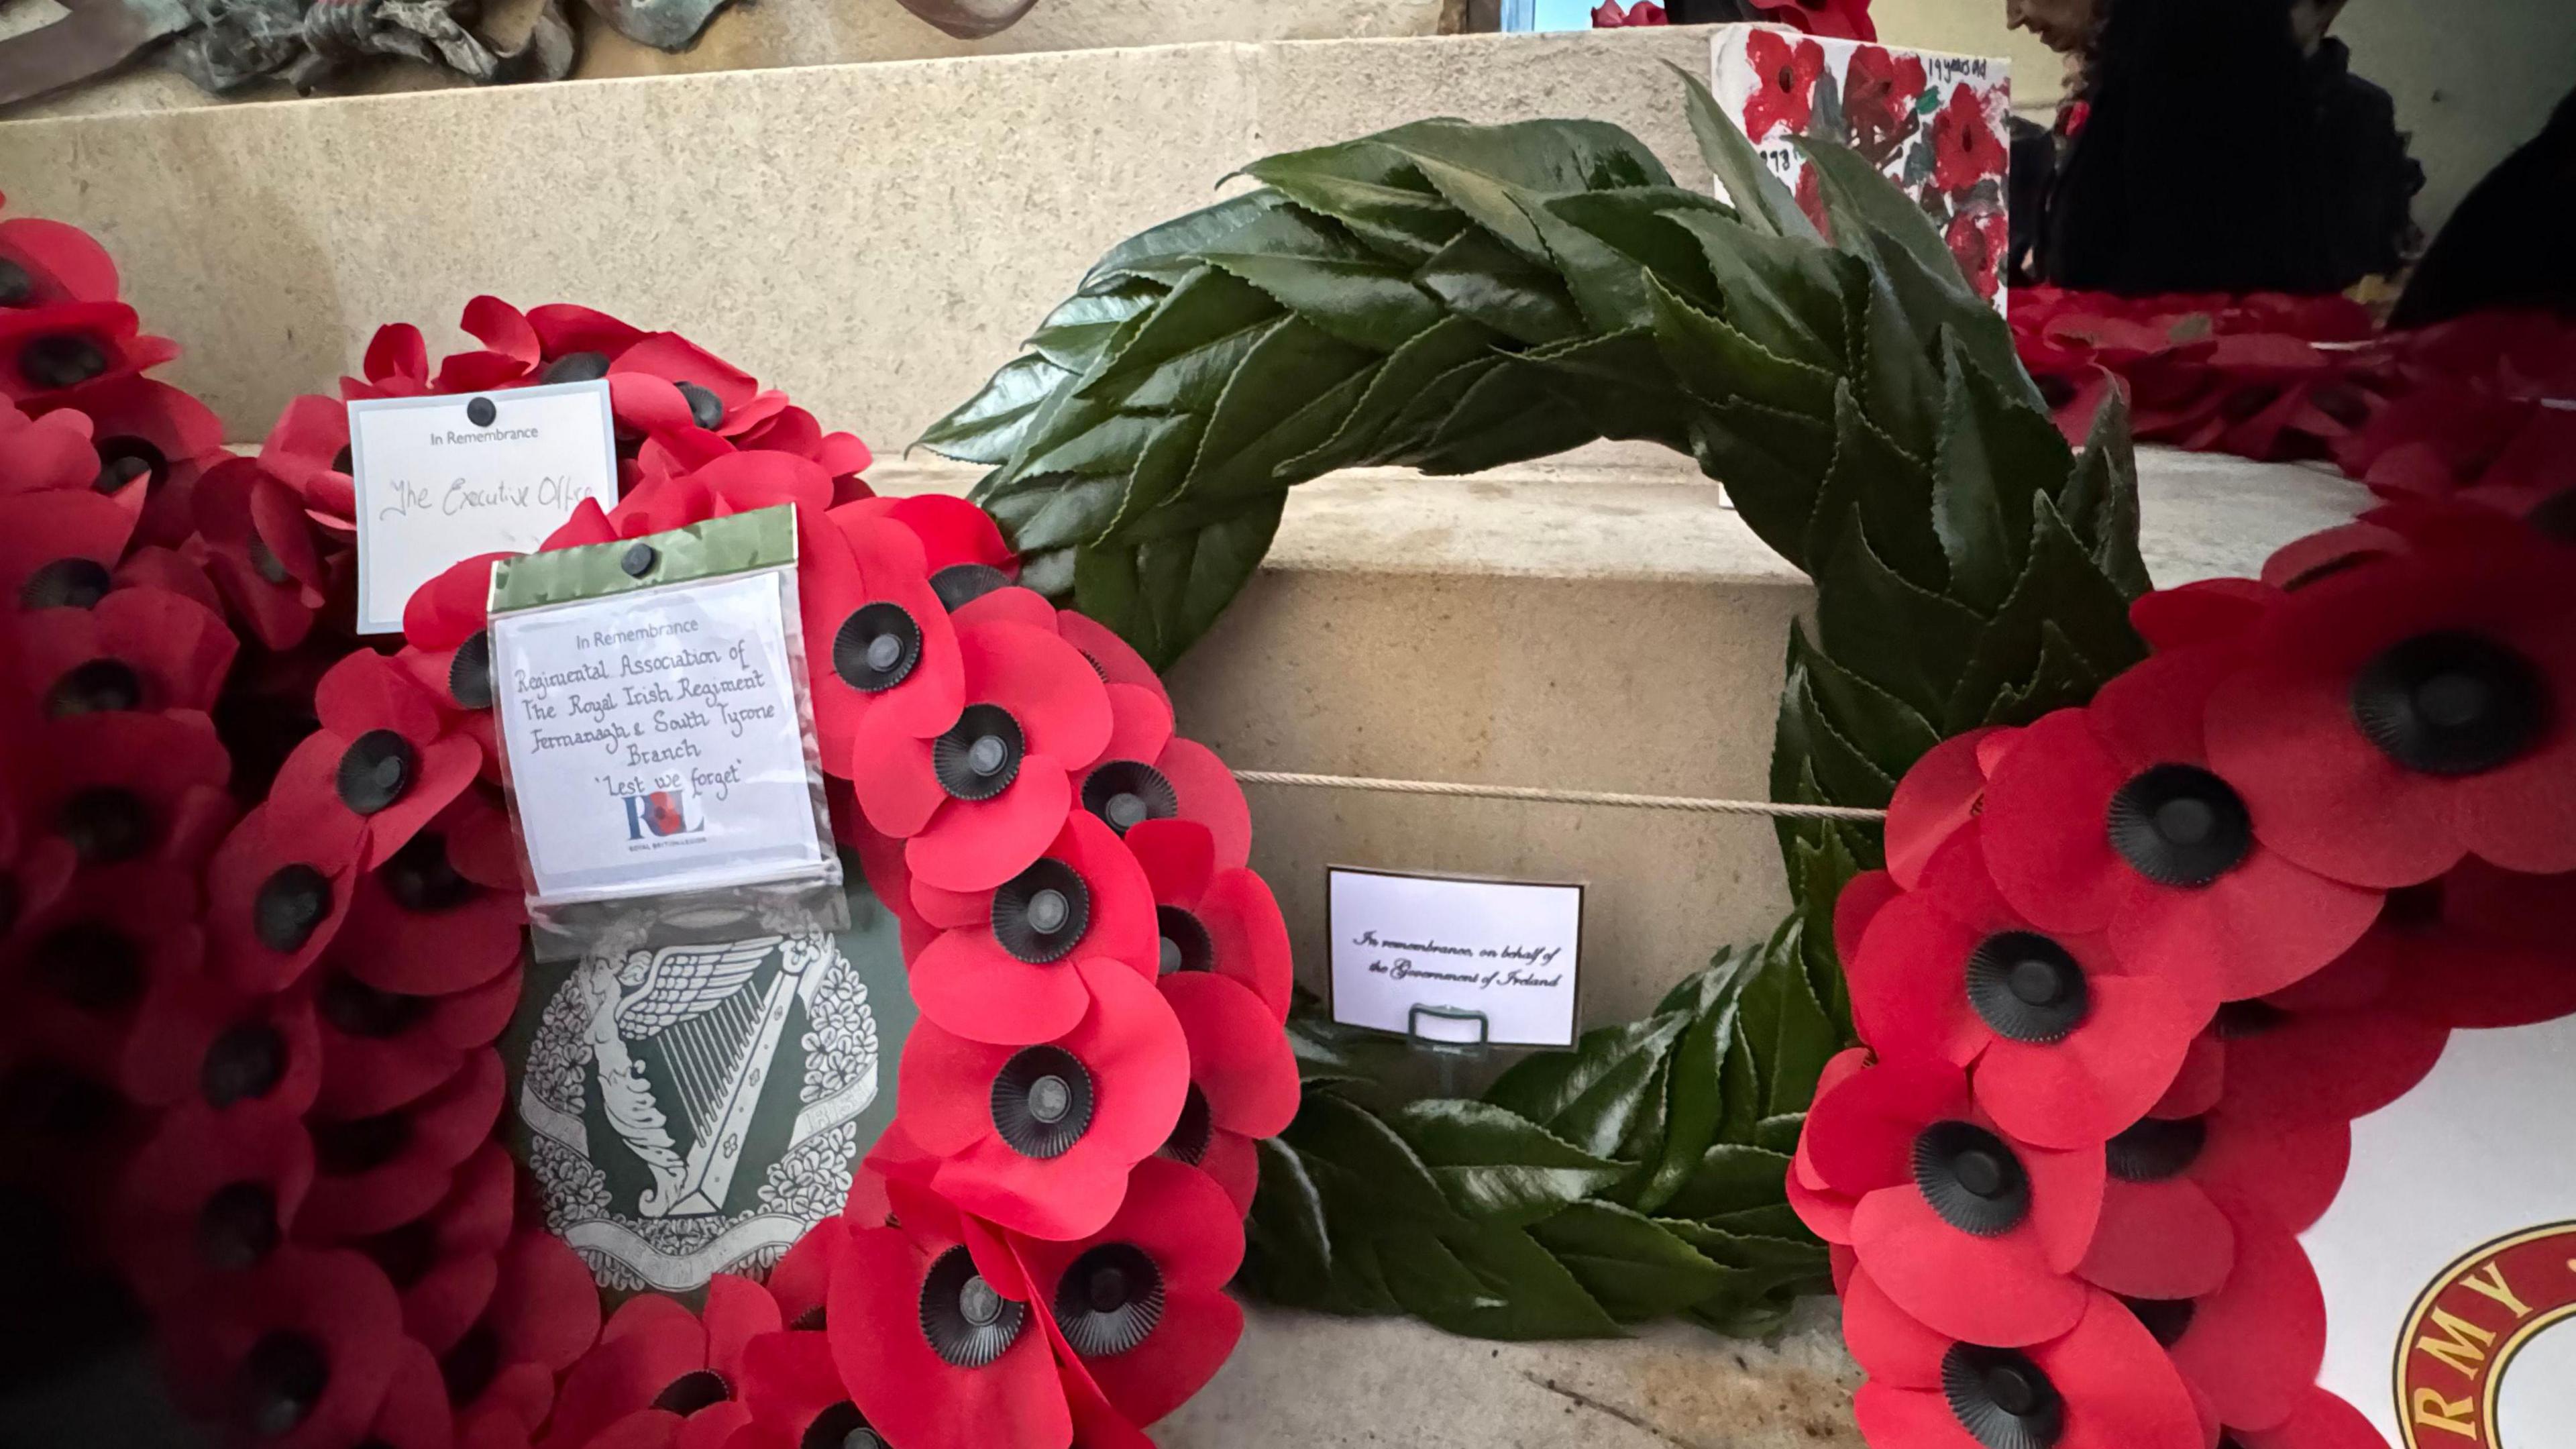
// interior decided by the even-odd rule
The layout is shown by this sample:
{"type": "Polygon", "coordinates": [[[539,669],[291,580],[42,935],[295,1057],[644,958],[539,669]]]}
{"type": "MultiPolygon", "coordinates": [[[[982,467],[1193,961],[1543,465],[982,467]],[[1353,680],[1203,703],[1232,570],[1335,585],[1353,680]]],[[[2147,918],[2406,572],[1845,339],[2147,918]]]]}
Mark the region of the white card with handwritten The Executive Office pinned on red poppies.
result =
{"type": "Polygon", "coordinates": [[[585,500],[618,503],[608,382],[348,405],[358,632],[399,634],[412,590],[474,554],[526,554],[585,500]]]}

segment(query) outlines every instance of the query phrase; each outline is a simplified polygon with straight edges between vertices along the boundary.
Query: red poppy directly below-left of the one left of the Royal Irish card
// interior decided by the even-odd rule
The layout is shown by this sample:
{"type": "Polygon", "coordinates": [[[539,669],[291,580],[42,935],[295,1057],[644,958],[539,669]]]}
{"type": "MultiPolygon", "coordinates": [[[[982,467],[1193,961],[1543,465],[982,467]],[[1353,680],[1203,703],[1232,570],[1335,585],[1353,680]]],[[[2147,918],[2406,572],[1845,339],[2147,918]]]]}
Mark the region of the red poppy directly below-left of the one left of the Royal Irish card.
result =
{"type": "Polygon", "coordinates": [[[330,946],[355,895],[355,817],[278,830],[255,804],[206,864],[209,969],[237,990],[278,990],[330,946]]]}

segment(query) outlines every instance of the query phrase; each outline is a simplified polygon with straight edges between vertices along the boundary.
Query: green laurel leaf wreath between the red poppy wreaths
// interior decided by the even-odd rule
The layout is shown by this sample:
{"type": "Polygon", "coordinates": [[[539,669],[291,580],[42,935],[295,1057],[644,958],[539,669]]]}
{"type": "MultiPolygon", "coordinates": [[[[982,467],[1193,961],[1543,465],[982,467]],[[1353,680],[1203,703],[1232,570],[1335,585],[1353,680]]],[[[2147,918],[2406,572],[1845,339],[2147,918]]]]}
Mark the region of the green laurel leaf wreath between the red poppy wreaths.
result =
{"type": "MultiPolygon", "coordinates": [[[[1816,583],[1772,797],[1883,807],[1942,737],[2081,704],[2143,655],[2128,420],[2112,400],[2069,449],[1904,191],[1801,139],[1824,237],[1682,80],[1731,206],[1597,121],[1275,155],[1244,168],[1257,191],[1113,248],[922,446],[992,464],[974,498],[1023,583],[1157,665],[1242,590],[1298,482],[1602,436],[1687,451],[1816,583]]],[[[1247,1281],[1486,1338],[1754,1333],[1824,1289],[1783,1173],[1850,1042],[1834,897],[1883,846],[1783,820],[1780,848],[1795,910],[1770,941],[1481,1098],[1396,1101],[1401,1047],[1301,1013],[1306,1093],[1262,1142],[1247,1281]]]]}

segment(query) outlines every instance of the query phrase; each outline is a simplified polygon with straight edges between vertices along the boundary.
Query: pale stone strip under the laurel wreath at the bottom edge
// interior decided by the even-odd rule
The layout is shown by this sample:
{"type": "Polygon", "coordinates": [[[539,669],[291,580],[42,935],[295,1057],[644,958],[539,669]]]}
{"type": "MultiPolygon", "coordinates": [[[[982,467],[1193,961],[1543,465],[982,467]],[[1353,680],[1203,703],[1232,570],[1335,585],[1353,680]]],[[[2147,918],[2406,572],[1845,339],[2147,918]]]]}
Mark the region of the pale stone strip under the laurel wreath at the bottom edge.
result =
{"type": "Polygon", "coordinates": [[[1636,1338],[1486,1343],[1401,1320],[1249,1307],[1162,1449],[1860,1449],[1832,1299],[1772,1341],[1651,1323],[1636,1338]]]}

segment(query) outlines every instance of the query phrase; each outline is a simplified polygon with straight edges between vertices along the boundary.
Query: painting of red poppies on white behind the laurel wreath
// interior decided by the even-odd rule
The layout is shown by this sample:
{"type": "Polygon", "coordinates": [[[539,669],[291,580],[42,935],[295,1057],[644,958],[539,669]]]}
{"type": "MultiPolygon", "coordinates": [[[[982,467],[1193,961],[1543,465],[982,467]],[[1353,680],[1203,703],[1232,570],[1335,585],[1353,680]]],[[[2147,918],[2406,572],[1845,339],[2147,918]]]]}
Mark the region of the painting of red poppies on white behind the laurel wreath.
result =
{"type": "Polygon", "coordinates": [[[1713,64],[1718,103],[1819,229],[1824,196],[1795,137],[1847,144],[1904,186],[1978,297],[2004,307],[2009,62],[1726,26],[1713,64]]]}

